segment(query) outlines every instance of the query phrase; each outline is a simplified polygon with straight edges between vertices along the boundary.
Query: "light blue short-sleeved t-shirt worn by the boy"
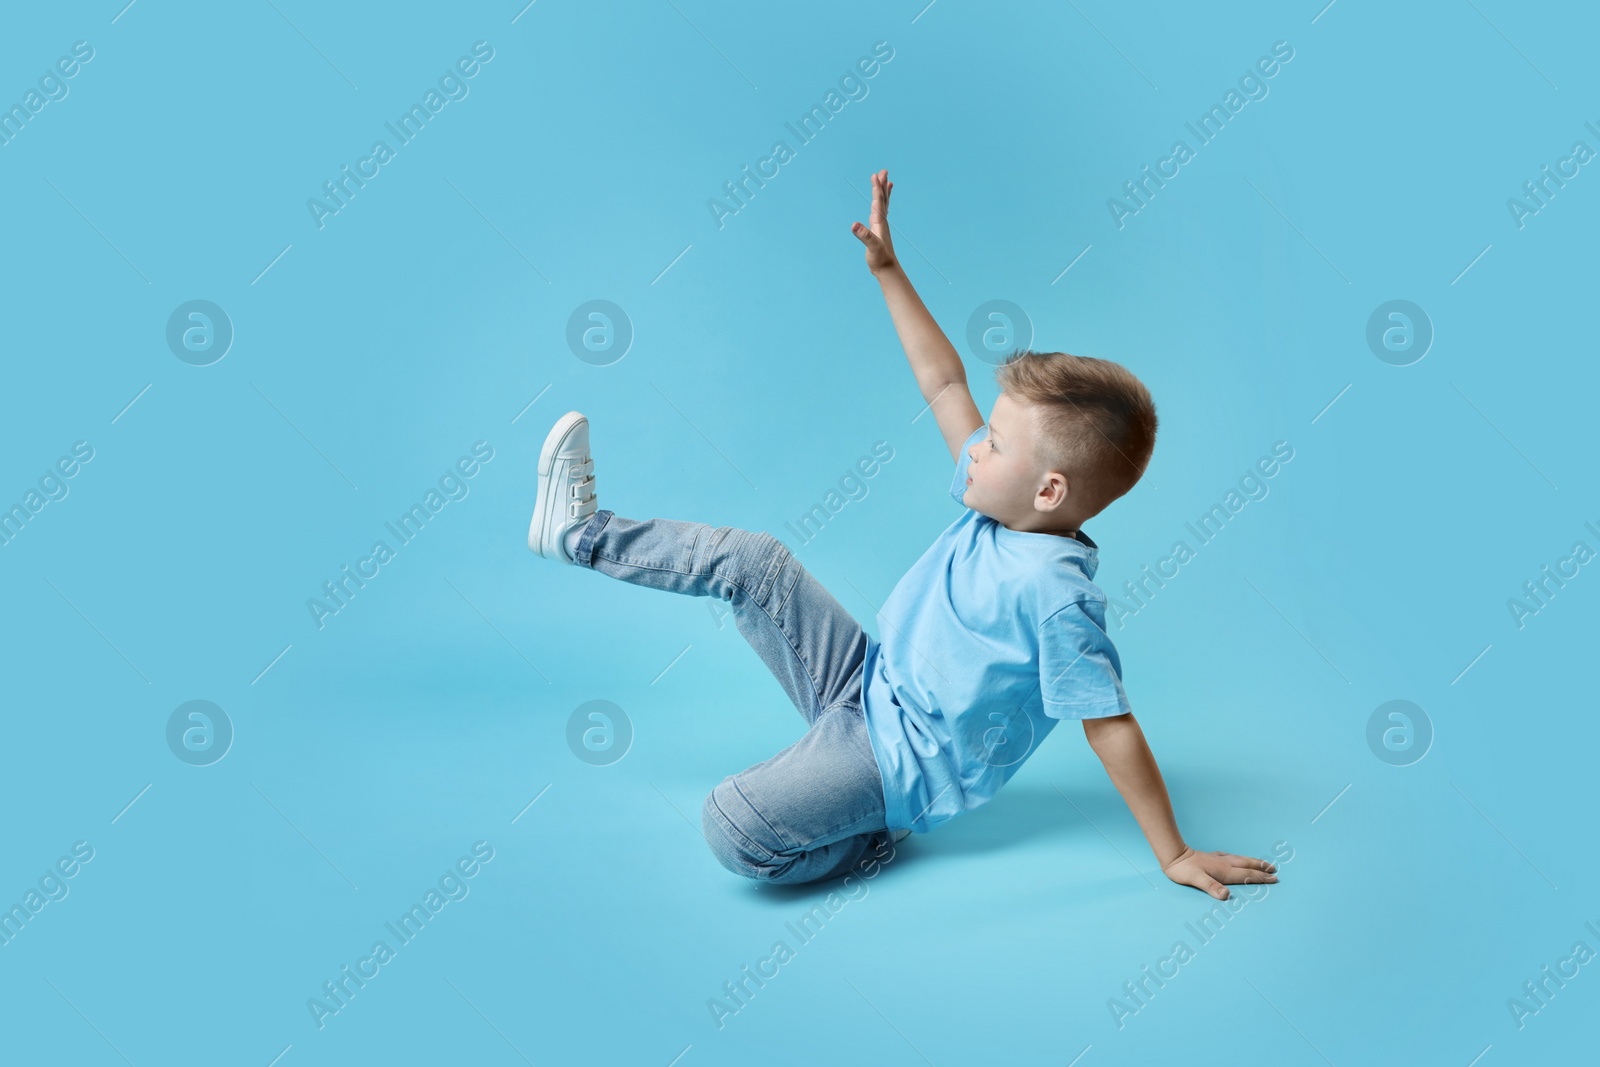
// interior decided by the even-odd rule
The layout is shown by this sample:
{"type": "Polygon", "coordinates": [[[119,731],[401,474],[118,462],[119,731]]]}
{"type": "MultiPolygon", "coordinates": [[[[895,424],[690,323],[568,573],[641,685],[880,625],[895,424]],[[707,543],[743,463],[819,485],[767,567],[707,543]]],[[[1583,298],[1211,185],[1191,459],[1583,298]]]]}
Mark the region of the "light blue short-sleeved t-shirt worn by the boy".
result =
{"type": "MultiPolygon", "coordinates": [[[[962,445],[950,496],[966,493],[962,445]]],[[[1093,582],[1094,541],[1006,530],[965,509],[867,633],[862,713],[891,830],[987,803],[1062,718],[1131,712],[1093,582]]]]}

